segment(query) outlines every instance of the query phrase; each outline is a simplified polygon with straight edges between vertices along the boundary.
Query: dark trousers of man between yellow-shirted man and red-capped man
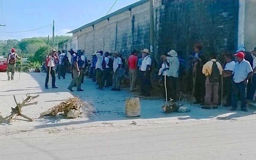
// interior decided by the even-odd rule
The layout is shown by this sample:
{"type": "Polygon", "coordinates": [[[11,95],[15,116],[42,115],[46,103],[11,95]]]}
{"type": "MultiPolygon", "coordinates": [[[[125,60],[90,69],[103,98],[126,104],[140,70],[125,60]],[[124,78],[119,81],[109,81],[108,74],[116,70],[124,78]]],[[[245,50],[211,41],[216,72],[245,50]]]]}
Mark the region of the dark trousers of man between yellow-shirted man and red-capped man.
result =
{"type": "Polygon", "coordinates": [[[232,97],[232,76],[223,78],[223,95],[227,96],[226,104],[231,105],[232,97]]]}

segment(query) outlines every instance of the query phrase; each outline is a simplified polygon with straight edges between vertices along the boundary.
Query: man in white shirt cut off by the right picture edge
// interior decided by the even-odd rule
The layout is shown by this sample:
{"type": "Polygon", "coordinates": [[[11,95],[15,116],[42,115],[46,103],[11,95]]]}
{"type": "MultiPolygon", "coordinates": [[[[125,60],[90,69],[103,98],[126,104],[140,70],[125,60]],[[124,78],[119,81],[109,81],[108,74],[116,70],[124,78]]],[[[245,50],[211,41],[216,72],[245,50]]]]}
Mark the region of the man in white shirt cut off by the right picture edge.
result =
{"type": "MultiPolygon", "coordinates": [[[[248,99],[253,101],[254,93],[256,90],[256,47],[251,49],[252,57],[253,57],[253,76],[252,76],[252,84],[250,86],[248,99]]],[[[254,100],[256,102],[256,99],[254,100]]]]}

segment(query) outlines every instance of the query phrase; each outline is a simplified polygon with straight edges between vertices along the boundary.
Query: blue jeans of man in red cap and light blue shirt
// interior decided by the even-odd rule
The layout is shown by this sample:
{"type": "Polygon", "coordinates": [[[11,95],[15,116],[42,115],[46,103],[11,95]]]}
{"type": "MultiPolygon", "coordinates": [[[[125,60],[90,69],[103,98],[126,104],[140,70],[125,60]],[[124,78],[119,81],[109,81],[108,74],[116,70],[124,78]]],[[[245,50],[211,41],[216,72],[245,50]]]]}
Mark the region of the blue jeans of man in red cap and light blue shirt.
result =
{"type": "Polygon", "coordinates": [[[237,108],[237,99],[238,95],[240,94],[240,101],[241,101],[241,109],[246,108],[246,84],[244,82],[235,83],[233,82],[232,88],[232,108],[237,108]]]}

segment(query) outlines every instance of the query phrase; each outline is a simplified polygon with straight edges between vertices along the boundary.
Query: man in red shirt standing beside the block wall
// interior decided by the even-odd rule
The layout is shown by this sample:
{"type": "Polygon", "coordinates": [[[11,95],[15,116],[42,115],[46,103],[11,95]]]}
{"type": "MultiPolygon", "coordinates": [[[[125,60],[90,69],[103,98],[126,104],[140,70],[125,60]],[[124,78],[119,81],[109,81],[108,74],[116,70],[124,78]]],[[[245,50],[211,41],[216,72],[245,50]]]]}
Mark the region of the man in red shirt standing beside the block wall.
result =
{"type": "Polygon", "coordinates": [[[132,51],[131,56],[128,59],[128,66],[129,66],[129,75],[130,75],[130,91],[134,92],[134,88],[136,87],[136,80],[137,80],[137,62],[138,62],[138,51],[135,49],[132,51]]]}

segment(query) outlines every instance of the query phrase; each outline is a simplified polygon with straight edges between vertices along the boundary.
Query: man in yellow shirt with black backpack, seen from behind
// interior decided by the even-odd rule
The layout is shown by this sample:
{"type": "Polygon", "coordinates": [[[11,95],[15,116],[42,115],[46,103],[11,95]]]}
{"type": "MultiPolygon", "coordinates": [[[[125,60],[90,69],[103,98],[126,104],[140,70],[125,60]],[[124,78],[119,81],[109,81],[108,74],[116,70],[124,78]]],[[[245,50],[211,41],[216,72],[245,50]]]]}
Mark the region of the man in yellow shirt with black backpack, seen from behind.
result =
{"type": "Polygon", "coordinates": [[[218,87],[219,81],[221,79],[222,67],[221,64],[216,60],[216,56],[217,54],[215,52],[211,52],[211,60],[204,64],[202,70],[202,73],[204,73],[204,75],[206,76],[206,94],[204,97],[205,106],[201,107],[203,109],[211,109],[211,105],[213,105],[213,109],[218,108],[218,87]]]}

